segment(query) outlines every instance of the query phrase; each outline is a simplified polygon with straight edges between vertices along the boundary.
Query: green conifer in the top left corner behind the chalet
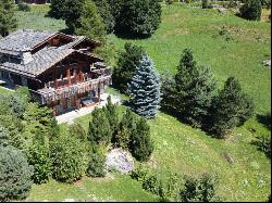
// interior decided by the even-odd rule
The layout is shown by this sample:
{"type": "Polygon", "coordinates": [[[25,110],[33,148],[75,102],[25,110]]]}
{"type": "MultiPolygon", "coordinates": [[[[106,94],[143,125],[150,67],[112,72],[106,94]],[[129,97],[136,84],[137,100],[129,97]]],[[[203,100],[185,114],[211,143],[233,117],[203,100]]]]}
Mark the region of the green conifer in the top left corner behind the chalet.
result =
{"type": "Polygon", "coordinates": [[[13,0],[0,0],[0,35],[5,37],[17,27],[13,0]]]}

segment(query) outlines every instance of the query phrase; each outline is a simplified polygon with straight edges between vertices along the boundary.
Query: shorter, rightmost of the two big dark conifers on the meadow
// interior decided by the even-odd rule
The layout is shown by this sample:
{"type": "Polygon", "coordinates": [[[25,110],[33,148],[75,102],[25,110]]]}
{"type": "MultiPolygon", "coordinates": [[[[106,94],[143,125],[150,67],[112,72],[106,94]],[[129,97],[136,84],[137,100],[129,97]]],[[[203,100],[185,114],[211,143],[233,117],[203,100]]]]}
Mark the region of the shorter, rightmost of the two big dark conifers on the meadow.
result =
{"type": "Polygon", "coordinates": [[[224,138],[231,129],[243,125],[255,111],[251,99],[243,92],[239,81],[228,77],[224,89],[213,101],[212,127],[218,138],[224,138]]]}

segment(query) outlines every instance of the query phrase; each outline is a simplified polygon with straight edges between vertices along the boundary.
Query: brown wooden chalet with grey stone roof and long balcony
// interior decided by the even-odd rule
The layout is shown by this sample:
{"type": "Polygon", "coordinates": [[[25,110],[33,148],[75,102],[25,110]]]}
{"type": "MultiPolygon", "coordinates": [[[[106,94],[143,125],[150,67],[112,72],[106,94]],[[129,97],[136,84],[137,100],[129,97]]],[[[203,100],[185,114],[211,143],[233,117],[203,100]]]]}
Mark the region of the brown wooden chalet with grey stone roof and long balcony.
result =
{"type": "Polygon", "coordinates": [[[17,30],[0,39],[0,80],[26,86],[59,115],[100,102],[111,72],[91,52],[100,43],[57,31],[17,30]]]}

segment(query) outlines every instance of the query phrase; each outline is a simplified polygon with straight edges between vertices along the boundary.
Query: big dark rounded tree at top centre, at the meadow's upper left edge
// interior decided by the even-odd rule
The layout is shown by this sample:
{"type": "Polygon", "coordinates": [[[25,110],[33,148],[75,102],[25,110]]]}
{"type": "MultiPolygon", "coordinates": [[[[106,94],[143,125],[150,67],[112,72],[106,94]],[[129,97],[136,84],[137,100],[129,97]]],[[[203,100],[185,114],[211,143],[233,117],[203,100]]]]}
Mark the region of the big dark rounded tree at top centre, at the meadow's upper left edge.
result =
{"type": "Polygon", "coordinates": [[[150,37],[160,22],[161,5],[158,1],[126,0],[116,18],[115,31],[126,37],[150,37]]]}

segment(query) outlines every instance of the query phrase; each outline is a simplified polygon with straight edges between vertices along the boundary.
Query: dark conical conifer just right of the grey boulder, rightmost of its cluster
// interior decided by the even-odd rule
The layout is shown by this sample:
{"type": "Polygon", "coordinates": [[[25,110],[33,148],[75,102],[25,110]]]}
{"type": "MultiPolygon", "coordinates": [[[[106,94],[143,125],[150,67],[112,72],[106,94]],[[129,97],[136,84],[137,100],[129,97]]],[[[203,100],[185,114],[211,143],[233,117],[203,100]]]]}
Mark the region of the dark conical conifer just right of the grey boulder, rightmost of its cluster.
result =
{"type": "Polygon", "coordinates": [[[136,130],[132,134],[129,151],[139,162],[148,161],[153,151],[153,143],[150,138],[150,127],[145,118],[140,118],[137,122],[136,130]]]}

